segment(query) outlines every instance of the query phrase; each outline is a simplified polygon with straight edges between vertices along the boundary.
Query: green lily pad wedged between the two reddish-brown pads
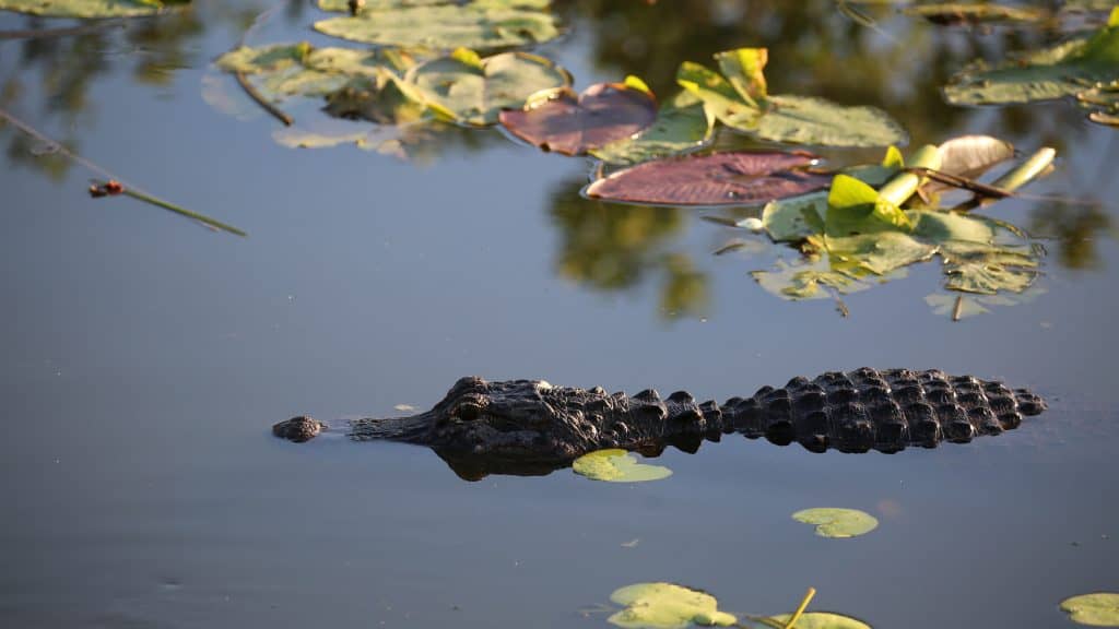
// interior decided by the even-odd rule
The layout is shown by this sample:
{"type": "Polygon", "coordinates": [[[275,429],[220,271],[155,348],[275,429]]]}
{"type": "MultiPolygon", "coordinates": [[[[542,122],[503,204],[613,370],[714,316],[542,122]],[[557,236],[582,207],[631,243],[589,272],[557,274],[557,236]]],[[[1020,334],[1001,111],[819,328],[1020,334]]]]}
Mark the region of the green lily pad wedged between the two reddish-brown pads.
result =
{"type": "Polygon", "coordinates": [[[711,141],[715,118],[689,92],[680,92],[661,105],[657,120],[634,138],[626,138],[590,153],[606,163],[633,165],[686,153],[711,141]]]}

